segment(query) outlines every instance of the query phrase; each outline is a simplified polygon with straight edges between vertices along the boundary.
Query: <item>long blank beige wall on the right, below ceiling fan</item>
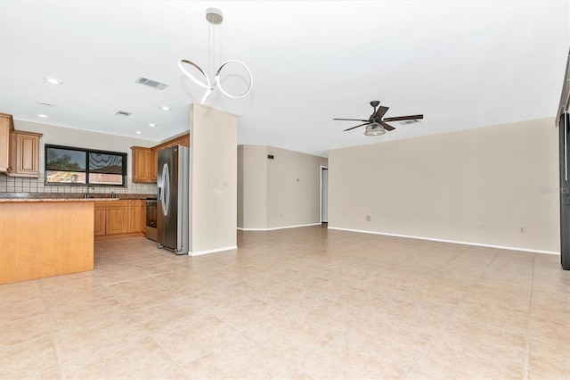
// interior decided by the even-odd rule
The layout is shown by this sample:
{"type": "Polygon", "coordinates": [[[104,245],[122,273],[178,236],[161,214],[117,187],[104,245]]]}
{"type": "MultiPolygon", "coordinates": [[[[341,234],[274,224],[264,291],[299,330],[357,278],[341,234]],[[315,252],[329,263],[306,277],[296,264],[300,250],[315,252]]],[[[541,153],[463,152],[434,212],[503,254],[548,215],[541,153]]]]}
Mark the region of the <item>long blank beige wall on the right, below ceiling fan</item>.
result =
{"type": "Polygon", "coordinates": [[[559,252],[550,118],[338,149],[329,162],[330,227],[559,252]]]}

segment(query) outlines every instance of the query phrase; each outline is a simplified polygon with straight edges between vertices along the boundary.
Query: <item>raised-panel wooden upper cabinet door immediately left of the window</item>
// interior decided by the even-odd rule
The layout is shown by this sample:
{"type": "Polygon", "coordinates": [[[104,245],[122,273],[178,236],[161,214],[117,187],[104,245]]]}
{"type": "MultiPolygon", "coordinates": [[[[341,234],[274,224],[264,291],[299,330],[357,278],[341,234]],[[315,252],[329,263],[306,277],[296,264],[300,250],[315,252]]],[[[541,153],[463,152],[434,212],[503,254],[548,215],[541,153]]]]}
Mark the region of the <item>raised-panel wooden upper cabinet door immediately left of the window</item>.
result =
{"type": "Polygon", "coordinates": [[[39,138],[33,132],[12,132],[12,177],[39,177],[39,138]]]}

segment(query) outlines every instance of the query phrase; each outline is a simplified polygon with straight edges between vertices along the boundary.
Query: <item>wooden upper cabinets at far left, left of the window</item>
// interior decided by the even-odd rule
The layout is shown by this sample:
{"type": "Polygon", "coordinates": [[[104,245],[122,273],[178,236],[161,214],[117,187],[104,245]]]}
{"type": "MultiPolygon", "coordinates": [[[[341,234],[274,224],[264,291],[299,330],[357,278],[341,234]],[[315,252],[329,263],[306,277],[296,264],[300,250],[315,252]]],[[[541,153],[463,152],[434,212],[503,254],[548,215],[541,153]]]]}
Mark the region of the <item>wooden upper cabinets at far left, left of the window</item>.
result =
{"type": "Polygon", "coordinates": [[[14,130],[12,115],[0,113],[0,172],[11,177],[39,177],[41,133],[14,130]]]}

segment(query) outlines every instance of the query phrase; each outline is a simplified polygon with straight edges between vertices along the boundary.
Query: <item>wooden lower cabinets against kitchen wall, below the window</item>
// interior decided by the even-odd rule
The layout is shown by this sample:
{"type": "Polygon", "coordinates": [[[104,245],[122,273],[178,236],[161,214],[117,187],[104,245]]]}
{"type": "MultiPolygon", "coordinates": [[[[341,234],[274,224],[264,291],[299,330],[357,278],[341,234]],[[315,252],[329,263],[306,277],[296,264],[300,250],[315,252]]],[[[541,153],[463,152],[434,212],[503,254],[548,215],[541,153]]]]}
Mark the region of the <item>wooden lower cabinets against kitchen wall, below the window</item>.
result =
{"type": "Polygon", "coordinates": [[[142,200],[95,203],[95,239],[142,236],[142,203],[142,200]]]}

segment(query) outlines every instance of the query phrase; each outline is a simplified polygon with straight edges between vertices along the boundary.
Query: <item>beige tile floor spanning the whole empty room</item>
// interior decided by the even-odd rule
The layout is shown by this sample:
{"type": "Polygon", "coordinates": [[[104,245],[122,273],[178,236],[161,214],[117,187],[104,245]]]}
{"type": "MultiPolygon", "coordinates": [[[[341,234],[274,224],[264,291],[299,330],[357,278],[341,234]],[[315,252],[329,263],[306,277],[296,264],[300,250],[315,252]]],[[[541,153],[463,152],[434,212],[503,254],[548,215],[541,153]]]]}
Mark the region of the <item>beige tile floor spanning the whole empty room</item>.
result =
{"type": "Polygon", "coordinates": [[[570,378],[559,256],[303,227],[0,285],[0,378],[570,378]]]}

